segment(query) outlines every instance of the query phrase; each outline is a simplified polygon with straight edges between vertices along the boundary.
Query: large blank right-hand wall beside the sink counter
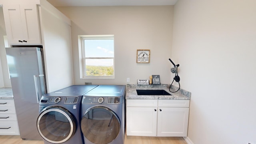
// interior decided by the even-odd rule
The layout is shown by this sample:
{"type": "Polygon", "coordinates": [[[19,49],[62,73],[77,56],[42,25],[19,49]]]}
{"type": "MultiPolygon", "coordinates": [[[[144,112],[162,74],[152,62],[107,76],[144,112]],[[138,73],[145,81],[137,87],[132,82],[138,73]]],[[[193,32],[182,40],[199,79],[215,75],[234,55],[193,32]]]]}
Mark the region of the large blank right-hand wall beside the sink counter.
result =
{"type": "Polygon", "coordinates": [[[256,1],[178,0],[172,58],[194,144],[256,143],[256,1]]]}

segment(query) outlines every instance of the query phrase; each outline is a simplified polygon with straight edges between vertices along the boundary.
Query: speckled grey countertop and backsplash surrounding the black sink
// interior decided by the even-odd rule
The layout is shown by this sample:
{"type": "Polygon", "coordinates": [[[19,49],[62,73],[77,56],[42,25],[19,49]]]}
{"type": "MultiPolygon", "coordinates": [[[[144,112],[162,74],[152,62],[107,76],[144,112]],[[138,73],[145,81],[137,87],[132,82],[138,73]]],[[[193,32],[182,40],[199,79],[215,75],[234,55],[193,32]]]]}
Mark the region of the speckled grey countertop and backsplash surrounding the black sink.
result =
{"type": "MultiPolygon", "coordinates": [[[[160,85],[137,85],[137,84],[127,84],[126,85],[126,99],[144,99],[144,100],[190,100],[191,92],[180,89],[178,92],[169,91],[170,84],[160,84],[160,85]],[[166,92],[172,94],[170,96],[138,96],[136,90],[165,90],[166,92]]],[[[171,87],[171,91],[176,91],[178,88],[176,86],[171,87]]]]}

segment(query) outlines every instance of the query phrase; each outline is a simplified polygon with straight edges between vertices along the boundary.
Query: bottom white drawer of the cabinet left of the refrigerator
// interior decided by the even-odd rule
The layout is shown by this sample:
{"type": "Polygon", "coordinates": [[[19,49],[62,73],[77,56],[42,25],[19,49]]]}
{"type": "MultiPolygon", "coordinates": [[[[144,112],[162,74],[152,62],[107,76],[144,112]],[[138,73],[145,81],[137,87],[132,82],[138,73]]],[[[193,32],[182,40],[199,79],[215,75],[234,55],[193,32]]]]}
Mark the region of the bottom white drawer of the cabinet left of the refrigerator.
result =
{"type": "Polygon", "coordinates": [[[19,135],[17,121],[0,122],[0,135],[19,135]]]}

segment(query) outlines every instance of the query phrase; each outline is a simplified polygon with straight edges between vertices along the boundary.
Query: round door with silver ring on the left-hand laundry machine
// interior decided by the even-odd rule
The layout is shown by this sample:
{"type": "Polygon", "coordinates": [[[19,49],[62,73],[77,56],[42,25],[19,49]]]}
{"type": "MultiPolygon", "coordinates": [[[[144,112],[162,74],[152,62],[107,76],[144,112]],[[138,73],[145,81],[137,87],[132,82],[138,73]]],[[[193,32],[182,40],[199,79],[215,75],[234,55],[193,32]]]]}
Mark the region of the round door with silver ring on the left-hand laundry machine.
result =
{"type": "Polygon", "coordinates": [[[44,140],[59,144],[69,140],[76,132],[76,119],[60,106],[42,110],[37,118],[37,129],[44,140]]]}

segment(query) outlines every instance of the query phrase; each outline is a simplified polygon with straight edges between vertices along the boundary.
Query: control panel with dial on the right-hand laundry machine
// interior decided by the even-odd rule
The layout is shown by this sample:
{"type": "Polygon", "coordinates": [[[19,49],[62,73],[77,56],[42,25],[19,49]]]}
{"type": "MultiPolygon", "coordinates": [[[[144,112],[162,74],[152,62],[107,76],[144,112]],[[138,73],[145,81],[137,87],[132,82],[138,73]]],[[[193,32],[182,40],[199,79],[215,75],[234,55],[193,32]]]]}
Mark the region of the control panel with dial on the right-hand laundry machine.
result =
{"type": "Polygon", "coordinates": [[[83,96],[82,103],[85,104],[120,104],[121,97],[100,97],[100,96],[83,96]]]}

